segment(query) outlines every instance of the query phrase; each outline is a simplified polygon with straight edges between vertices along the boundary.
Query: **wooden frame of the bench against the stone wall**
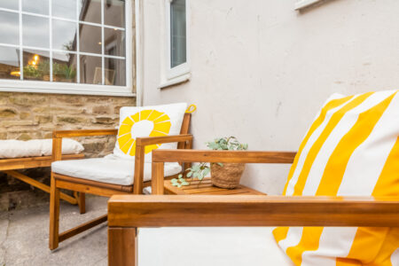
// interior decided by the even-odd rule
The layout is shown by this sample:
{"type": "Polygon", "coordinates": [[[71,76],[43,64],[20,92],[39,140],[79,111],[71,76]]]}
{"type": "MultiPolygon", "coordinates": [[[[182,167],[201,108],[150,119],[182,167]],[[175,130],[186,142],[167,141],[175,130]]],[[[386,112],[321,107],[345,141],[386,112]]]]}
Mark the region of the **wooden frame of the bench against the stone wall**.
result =
{"type": "MultiPolygon", "coordinates": [[[[64,154],[61,160],[77,160],[84,158],[84,154],[64,154]]],[[[38,156],[38,157],[22,157],[12,159],[0,159],[0,171],[4,172],[8,176],[19,179],[22,182],[33,185],[35,188],[42,190],[43,192],[50,193],[50,186],[43,184],[29,176],[21,174],[17,170],[27,168],[45,168],[51,166],[51,156],[38,156]]],[[[71,197],[66,193],[61,192],[60,198],[66,200],[71,204],[77,204],[77,196],[71,197]]]]}

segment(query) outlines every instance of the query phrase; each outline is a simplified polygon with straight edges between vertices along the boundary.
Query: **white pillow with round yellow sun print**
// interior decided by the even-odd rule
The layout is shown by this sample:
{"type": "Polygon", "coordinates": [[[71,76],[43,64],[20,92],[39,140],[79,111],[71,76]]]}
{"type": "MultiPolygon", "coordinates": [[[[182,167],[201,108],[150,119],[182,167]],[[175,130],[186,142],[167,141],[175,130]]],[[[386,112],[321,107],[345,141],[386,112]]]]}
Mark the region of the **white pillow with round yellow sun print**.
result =
{"type": "MultiPolygon", "coordinates": [[[[118,136],[113,154],[132,159],[137,137],[162,137],[180,134],[187,104],[121,107],[118,136]]],[[[155,149],[176,149],[177,143],[145,146],[145,161],[151,162],[155,149]]]]}

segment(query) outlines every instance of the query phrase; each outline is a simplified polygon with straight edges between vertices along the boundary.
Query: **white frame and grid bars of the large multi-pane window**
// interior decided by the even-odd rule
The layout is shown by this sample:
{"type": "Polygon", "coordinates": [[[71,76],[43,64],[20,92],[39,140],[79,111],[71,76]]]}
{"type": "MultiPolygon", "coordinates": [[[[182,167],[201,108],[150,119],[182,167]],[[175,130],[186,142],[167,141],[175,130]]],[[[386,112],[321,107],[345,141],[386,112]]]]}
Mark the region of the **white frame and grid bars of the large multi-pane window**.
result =
{"type": "MultiPolygon", "coordinates": [[[[82,94],[82,95],[105,95],[105,96],[125,96],[125,97],[135,97],[136,93],[133,91],[133,59],[132,59],[132,49],[133,49],[133,38],[132,38],[132,1],[133,0],[126,0],[125,4],[125,20],[126,20],[126,27],[125,27],[125,38],[126,38],[126,54],[125,57],[114,57],[114,56],[107,56],[107,55],[99,55],[100,57],[102,56],[102,65],[104,66],[104,59],[105,58],[114,58],[114,59],[125,59],[125,64],[126,64],[126,86],[110,86],[110,85],[96,85],[96,84],[83,84],[83,83],[68,83],[68,82],[52,82],[52,75],[51,75],[51,82],[41,82],[41,81],[23,81],[23,80],[5,80],[5,79],[0,79],[0,91],[12,91],[12,92],[39,92],[39,93],[59,93],[59,94],[82,94]]],[[[139,0],[136,0],[139,1],[139,0]]],[[[49,1],[49,15],[40,15],[40,14],[33,14],[29,12],[22,12],[22,0],[19,0],[20,4],[20,10],[15,11],[15,10],[10,10],[10,9],[5,9],[5,8],[0,8],[0,11],[6,11],[6,12],[14,12],[14,13],[19,13],[20,14],[20,45],[12,45],[12,44],[5,44],[2,43],[2,46],[8,46],[8,47],[16,47],[20,49],[20,53],[22,53],[22,14],[28,14],[28,15],[34,15],[36,17],[43,17],[47,18],[50,20],[50,36],[52,35],[52,18],[53,17],[51,14],[51,1],[49,1]]],[[[79,6],[78,3],[79,1],[76,1],[76,11],[78,12],[79,15],[79,6]]],[[[101,0],[102,6],[104,6],[105,0],[101,0]]],[[[138,5],[136,5],[138,7],[138,5]]],[[[102,21],[104,21],[104,12],[101,12],[102,16],[102,21]]],[[[67,20],[67,19],[62,19],[62,18],[56,18],[58,20],[66,20],[66,21],[73,21],[76,22],[77,28],[79,29],[79,21],[75,20],[67,20]]],[[[82,24],[87,24],[87,25],[95,25],[95,26],[100,26],[102,27],[102,32],[104,33],[104,26],[103,25],[98,25],[96,23],[90,23],[90,22],[82,22],[82,24]]],[[[112,28],[118,28],[118,27],[112,27],[112,28]]],[[[104,34],[102,35],[104,38],[104,34]]],[[[1,42],[1,40],[0,40],[1,42]]],[[[103,42],[104,43],[104,40],[103,42]]],[[[50,42],[50,48],[49,49],[37,49],[37,48],[32,48],[38,51],[55,51],[55,52],[66,52],[66,51],[58,51],[58,50],[52,50],[51,48],[52,42],[50,42]]],[[[79,33],[77,32],[77,45],[79,45],[79,33]]],[[[104,47],[104,45],[103,45],[104,47]]],[[[26,49],[27,47],[25,47],[26,49]]],[[[30,47],[28,48],[30,49],[30,47]]],[[[82,52],[77,49],[77,51],[71,52],[67,51],[68,53],[74,53],[76,55],[88,55],[88,56],[98,56],[96,54],[91,54],[88,52],[82,52]]],[[[102,51],[104,54],[104,51],[102,51]]],[[[20,57],[21,58],[21,57],[20,57]]],[[[50,59],[52,58],[52,53],[50,52],[50,59]]],[[[78,59],[77,62],[77,67],[76,67],[76,73],[80,73],[80,60],[78,59]]],[[[52,68],[52,65],[50,64],[50,67],[52,68]]],[[[103,82],[105,81],[105,68],[102,67],[102,76],[103,76],[103,82]]],[[[137,67],[135,67],[137,69],[137,67]]],[[[20,62],[20,72],[21,75],[23,75],[23,64],[20,62]]],[[[80,74],[77,75],[76,79],[77,82],[79,82],[79,76],[80,74]]]]}

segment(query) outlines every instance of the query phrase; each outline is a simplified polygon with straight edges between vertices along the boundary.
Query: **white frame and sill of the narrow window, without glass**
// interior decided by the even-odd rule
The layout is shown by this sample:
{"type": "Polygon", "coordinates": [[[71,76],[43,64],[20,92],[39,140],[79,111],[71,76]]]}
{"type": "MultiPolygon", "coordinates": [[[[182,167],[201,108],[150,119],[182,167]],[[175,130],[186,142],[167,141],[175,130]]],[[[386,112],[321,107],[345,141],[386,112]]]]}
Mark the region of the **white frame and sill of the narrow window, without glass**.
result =
{"type": "Polygon", "coordinates": [[[173,0],[165,0],[165,17],[166,17],[166,52],[165,52],[165,76],[166,81],[160,85],[160,88],[170,86],[174,83],[185,82],[190,79],[191,59],[190,59],[190,0],[185,0],[185,23],[186,23],[186,62],[179,66],[171,66],[171,28],[170,28],[170,5],[173,0]]]}

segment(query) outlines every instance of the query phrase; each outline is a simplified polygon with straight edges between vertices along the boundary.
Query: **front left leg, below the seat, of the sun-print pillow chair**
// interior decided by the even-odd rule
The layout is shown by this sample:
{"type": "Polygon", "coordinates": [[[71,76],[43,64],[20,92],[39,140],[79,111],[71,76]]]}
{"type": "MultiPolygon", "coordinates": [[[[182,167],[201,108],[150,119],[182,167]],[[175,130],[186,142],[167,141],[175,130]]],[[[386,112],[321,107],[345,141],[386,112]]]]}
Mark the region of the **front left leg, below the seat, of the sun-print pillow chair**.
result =
{"type": "Polygon", "coordinates": [[[50,189],[49,247],[51,250],[59,247],[59,189],[56,186],[56,180],[52,174],[50,189]]]}

